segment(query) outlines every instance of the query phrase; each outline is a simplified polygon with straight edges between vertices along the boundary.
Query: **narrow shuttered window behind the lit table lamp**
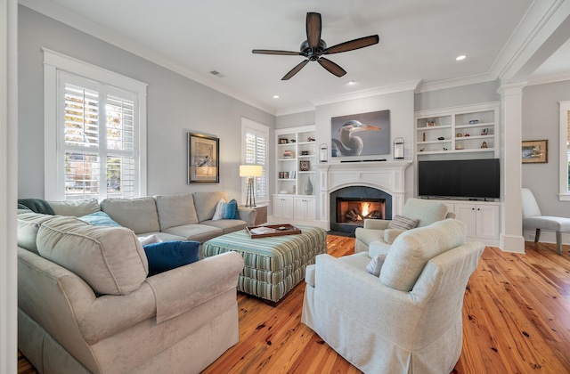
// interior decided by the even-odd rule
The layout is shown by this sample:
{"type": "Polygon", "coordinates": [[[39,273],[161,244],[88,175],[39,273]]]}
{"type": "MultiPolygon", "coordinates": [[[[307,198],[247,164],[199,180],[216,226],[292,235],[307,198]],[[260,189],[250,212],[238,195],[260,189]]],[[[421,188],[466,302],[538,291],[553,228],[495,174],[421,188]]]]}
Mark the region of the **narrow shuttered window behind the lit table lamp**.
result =
{"type": "MultiPolygon", "coordinates": [[[[256,202],[268,202],[267,185],[267,144],[269,139],[269,126],[258,124],[247,118],[241,118],[241,144],[242,144],[242,165],[255,164],[263,167],[263,175],[256,177],[255,191],[256,202]]],[[[241,186],[241,196],[243,201],[246,197],[247,181],[243,181],[241,186]]]]}

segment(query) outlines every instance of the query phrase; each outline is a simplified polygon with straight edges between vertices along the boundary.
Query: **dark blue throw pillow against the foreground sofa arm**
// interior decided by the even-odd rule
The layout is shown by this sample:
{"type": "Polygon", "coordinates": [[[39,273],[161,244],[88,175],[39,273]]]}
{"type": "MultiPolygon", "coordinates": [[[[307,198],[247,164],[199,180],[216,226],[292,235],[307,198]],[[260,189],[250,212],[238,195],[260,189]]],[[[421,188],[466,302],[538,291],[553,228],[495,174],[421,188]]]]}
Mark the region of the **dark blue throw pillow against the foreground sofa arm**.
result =
{"type": "Polygon", "coordinates": [[[198,261],[199,241],[161,241],[142,246],[149,260],[149,277],[198,261]]]}

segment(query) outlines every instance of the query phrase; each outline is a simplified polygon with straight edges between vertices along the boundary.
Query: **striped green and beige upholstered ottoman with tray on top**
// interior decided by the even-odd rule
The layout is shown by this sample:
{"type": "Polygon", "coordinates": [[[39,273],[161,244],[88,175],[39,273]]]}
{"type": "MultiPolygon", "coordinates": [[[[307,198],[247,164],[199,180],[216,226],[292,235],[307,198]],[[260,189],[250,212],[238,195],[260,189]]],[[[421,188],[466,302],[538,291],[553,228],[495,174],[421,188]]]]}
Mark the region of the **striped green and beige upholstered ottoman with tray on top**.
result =
{"type": "Polygon", "coordinates": [[[327,232],[319,227],[299,226],[297,235],[249,238],[246,230],[231,232],[208,240],[203,256],[235,251],[245,260],[238,290],[278,302],[305,278],[305,268],[314,257],[327,253],[327,232]]]}

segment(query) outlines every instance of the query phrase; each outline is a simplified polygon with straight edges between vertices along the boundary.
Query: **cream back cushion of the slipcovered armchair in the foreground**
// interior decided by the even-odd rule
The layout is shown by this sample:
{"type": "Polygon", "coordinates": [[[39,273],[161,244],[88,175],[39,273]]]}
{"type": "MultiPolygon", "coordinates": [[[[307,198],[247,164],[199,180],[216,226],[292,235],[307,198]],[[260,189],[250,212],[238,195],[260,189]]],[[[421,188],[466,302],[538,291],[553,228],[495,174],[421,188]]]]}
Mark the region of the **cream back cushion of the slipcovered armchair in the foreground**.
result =
{"type": "Polygon", "coordinates": [[[403,232],[388,250],[380,282],[411,291],[428,261],[465,242],[467,225],[455,219],[403,232]]]}

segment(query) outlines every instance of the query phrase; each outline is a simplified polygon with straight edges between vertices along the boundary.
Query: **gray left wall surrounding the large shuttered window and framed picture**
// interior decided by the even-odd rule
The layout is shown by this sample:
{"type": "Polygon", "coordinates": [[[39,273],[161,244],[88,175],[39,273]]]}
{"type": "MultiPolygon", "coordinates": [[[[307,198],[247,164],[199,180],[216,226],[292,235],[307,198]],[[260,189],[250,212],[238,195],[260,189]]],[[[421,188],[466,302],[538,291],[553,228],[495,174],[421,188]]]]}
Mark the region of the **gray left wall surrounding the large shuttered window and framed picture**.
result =
{"type": "Polygon", "coordinates": [[[42,47],[148,84],[147,194],[227,191],[240,201],[241,118],[275,117],[75,28],[19,7],[19,197],[44,197],[42,47]],[[186,133],[220,138],[220,183],[186,184],[186,133]]]}

